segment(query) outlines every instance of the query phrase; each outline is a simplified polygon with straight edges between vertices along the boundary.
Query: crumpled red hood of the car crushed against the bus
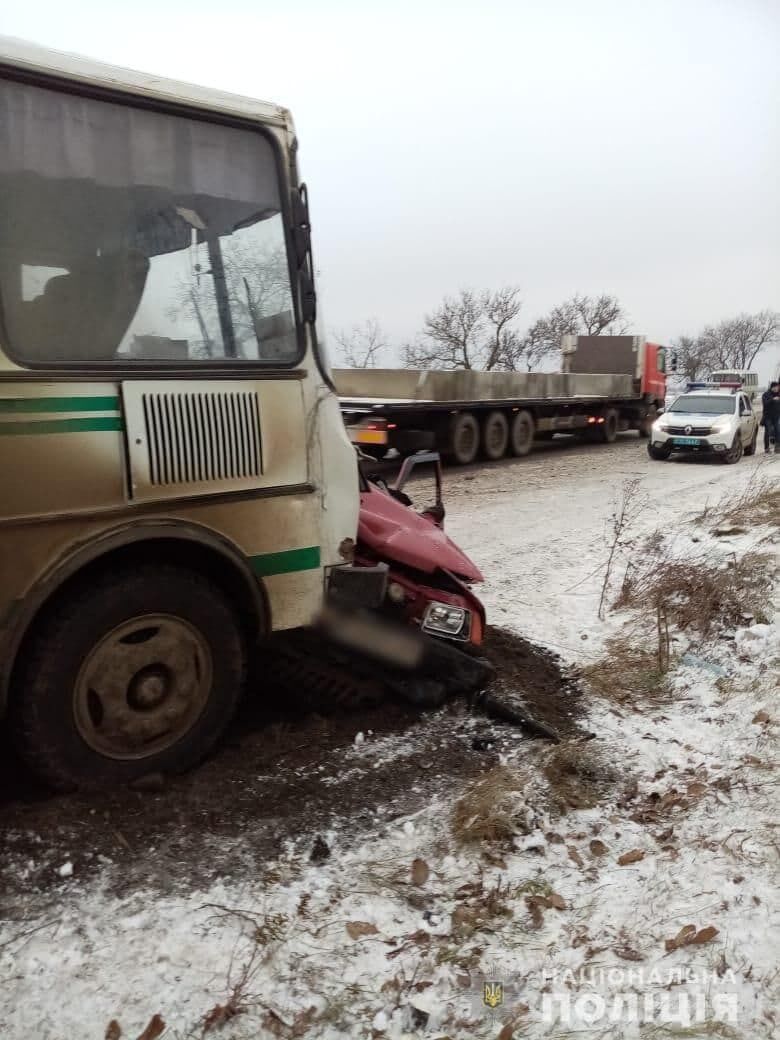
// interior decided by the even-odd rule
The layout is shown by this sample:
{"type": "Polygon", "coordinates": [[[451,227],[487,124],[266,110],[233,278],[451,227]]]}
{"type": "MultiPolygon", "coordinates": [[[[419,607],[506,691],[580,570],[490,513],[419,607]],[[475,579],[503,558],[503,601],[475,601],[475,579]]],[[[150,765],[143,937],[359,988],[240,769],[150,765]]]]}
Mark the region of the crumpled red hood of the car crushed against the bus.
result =
{"type": "Polygon", "coordinates": [[[484,580],[441,527],[373,485],[360,496],[358,542],[387,562],[425,574],[445,570],[465,581],[484,580]]]}

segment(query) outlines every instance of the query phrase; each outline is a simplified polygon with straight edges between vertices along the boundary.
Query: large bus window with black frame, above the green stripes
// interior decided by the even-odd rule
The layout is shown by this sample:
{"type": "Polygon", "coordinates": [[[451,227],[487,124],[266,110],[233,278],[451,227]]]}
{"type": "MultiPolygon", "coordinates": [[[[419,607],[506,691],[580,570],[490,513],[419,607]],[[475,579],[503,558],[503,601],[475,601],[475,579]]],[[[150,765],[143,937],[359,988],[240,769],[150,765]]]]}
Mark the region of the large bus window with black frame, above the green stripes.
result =
{"type": "Polygon", "coordinates": [[[18,363],[292,364],[285,242],[259,130],[0,83],[0,337],[18,363]]]}

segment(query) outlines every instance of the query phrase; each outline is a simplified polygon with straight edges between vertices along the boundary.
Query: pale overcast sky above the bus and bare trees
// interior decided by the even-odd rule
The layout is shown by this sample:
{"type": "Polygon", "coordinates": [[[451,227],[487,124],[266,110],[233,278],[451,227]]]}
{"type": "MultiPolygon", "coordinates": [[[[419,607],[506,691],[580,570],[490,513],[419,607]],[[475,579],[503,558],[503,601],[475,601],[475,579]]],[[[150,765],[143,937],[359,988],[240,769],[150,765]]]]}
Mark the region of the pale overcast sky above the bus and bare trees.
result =
{"type": "Polygon", "coordinates": [[[778,0],[3,8],[10,35],[289,106],[332,328],[400,340],[505,284],[528,322],[615,293],[661,341],[780,309],[778,0]]]}

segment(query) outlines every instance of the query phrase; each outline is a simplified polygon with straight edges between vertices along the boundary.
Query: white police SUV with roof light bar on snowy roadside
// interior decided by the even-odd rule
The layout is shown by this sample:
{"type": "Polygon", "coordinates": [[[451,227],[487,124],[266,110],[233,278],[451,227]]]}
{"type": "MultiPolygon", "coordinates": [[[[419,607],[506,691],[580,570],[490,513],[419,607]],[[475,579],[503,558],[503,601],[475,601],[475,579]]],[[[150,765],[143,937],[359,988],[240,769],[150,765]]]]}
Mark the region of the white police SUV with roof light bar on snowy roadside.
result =
{"type": "Polygon", "coordinates": [[[647,450],[662,462],[675,452],[716,454],[727,463],[755,454],[758,420],[742,390],[694,390],[676,397],[652,425],[647,450]]]}

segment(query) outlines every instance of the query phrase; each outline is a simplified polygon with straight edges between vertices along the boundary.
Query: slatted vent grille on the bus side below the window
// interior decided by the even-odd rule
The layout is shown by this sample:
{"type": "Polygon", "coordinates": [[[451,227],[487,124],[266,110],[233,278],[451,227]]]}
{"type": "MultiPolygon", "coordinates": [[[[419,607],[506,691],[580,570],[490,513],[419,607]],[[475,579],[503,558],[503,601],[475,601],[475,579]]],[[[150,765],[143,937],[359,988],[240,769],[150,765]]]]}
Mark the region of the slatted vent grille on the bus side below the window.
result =
{"type": "Polygon", "coordinates": [[[153,485],[236,480],[263,472],[256,393],[141,394],[153,485]]]}

